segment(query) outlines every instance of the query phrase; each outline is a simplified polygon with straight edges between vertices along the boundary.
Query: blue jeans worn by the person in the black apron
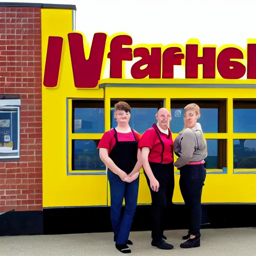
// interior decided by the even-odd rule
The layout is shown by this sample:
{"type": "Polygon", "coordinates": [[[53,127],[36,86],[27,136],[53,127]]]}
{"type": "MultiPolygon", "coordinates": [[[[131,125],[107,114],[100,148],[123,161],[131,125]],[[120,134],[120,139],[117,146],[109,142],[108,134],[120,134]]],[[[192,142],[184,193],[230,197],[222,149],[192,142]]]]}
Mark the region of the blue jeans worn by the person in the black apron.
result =
{"type": "Polygon", "coordinates": [[[138,182],[137,177],[132,182],[122,181],[118,175],[111,170],[107,170],[110,185],[110,217],[116,244],[125,244],[130,232],[131,223],[137,206],[138,182]],[[123,197],[125,200],[125,210],[121,217],[121,207],[123,197]]]}

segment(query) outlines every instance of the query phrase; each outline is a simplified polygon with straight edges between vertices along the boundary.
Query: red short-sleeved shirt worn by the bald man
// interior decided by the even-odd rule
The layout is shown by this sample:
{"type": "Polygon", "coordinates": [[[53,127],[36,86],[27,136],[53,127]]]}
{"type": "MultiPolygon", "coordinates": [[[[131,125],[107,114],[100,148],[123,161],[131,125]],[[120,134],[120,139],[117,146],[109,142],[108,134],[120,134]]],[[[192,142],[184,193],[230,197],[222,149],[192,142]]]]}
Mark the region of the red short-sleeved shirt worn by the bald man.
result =
{"type": "MultiPolygon", "coordinates": [[[[173,141],[172,141],[171,131],[169,130],[169,138],[168,138],[167,134],[160,132],[158,128],[156,129],[164,144],[162,163],[170,163],[173,161],[173,153],[172,153],[173,141]]],[[[141,149],[144,146],[150,148],[150,151],[148,154],[148,161],[160,163],[161,155],[162,155],[162,144],[154,128],[147,129],[139,139],[138,148],[141,149]]]]}

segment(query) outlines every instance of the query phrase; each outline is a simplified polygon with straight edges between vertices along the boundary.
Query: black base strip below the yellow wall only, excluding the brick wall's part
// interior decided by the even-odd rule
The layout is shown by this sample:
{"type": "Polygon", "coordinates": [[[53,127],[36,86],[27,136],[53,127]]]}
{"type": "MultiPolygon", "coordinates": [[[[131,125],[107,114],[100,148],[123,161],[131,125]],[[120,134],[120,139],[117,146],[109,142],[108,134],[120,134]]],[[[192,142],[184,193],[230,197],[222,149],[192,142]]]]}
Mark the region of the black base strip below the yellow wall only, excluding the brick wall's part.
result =
{"type": "MultiPolygon", "coordinates": [[[[150,205],[138,205],[132,231],[150,230],[150,205]]],[[[124,207],[122,208],[122,211],[124,207]]],[[[256,205],[202,205],[201,228],[256,226],[256,205]]],[[[173,204],[165,212],[165,229],[186,229],[184,204],[173,204]]],[[[43,233],[111,232],[110,207],[43,209],[43,233]]]]}

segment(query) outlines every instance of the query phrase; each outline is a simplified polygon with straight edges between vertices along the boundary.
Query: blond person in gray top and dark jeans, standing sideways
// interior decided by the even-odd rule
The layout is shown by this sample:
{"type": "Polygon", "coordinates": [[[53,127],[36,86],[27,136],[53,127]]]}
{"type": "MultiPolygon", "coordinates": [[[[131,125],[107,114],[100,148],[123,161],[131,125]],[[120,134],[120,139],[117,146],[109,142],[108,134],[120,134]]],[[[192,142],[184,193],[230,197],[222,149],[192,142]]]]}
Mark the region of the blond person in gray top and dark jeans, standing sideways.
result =
{"type": "Polygon", "coordinates": [[[188,235],[183,236],[187,241],[180,244],[181,248],[200,246],[201,224],[201,193],[206,176],[204,159],[207,156],[206,140],[200,123],[200,108],[191,103],[184,107],[184,127],[174,140],[174,152],[178,159],[174,163],[179,169],[179,187],[185,205],[189,210],[188,235]]]}

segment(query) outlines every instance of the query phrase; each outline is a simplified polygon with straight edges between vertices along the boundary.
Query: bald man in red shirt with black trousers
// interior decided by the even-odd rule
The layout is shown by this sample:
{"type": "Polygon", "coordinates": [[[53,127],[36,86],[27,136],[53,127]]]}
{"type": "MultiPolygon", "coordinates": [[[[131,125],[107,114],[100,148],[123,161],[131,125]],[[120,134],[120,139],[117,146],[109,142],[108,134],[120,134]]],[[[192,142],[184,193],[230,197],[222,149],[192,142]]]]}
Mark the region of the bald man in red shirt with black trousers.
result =
{"type": "Polygon", "coordinates": [[[174,189],[173,141],[168,122],[170,112],[160,108],[156,113],[157,123],[147,129],[141,136],[138,147],[146,173],[147,184],[152,199],[152,246],[160,249],[172,249],[173,245],[163,238],[162,213],[166,207],[166,190],[172,198],[174,189]]]}

